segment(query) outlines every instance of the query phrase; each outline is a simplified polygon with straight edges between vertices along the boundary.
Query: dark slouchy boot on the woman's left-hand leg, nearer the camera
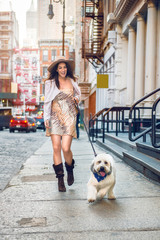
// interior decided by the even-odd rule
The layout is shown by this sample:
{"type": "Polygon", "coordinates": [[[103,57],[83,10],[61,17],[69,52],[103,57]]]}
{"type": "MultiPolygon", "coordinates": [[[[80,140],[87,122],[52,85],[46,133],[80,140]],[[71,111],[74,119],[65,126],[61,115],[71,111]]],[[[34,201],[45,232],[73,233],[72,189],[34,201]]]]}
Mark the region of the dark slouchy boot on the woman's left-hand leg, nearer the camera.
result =
{"type": "Polygon", "coordinates": [[[60,163],[59,165],[53,164],[54,171],[56,173],[56,178],[58,178],[58,190],[59,192],[66,192],[66,187],[64,185],[64,170],[63,164],[60,163]]]}

